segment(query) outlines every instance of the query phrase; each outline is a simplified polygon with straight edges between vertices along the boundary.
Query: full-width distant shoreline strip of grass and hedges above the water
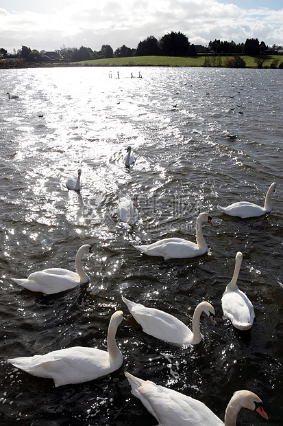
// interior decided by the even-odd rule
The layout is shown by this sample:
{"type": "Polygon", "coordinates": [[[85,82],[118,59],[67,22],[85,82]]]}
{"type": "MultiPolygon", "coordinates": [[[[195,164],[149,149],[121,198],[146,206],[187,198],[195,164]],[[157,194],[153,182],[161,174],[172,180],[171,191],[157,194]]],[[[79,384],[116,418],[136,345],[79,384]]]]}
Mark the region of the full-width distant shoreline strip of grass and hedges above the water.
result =
{"type": "MultiPolygon", "coordinates": [[[[18,68],[49,68],[49,67],[212,67],[231,68],[226,65],[227,60],[238,55],[198,54],[197,56],[130,56],[126,58],[105,58],[85,60],[82,62],[42,62],[27,63],[23,59],[0,60],[0,69],[18,68]]],[[[245,67],[236,68],[272,68],[282,69],[282,54],[265,54],[260,56],[240,56],[245,60],[245,67]],[[280,64],[282,64],[280,66],[280,64]]],[[[234,67],[232,67],[234,68],[234,67]]]]}

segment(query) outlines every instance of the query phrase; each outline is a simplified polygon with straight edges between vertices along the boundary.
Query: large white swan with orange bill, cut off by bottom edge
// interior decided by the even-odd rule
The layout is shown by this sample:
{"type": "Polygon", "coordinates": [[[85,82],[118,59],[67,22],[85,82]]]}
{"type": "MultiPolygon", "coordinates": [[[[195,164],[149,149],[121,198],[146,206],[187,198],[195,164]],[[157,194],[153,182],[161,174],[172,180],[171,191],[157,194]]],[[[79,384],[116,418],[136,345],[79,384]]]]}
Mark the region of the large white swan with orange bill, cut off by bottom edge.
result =
{"type": "Polygon", "coordinates": [[[236,418],[242,407],[256,411],[268,420],[261,399],[249,390],[238,390],[227,405],[225,422],[221,421],[204,403],[145,381],[125,372],[132,387],[132,394],[145,405],[160,426],[236,426],[236,418]]]}

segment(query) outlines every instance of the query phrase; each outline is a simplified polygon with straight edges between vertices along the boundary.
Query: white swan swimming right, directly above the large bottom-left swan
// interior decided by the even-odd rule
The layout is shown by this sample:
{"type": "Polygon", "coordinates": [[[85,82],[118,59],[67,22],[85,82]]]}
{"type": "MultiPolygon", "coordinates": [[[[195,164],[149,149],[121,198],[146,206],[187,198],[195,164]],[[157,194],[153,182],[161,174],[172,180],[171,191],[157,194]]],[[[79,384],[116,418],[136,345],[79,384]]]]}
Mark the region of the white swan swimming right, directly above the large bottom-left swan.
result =
{"type": "Polygon", "coordinates": [[[14,282],[31,291],[40,291],[44,294],[60,293],[77,287],[89,281],[88,276],[82,269],[82,256],[87,253],[93,253],[90,245],[85,244],[79,247],[75,256],[75,269],[77,272],[69,269],[49,268],[43,271],[31,273],[27,278],[12,278],[14,282]]]}

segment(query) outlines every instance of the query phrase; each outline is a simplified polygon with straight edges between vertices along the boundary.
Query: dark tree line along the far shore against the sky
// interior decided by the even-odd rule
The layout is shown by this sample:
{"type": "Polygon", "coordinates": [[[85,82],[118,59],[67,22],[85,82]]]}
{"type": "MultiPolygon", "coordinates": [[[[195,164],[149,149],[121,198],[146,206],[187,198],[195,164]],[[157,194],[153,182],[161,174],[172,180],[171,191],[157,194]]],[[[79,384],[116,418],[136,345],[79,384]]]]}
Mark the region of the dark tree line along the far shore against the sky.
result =
{"type": "MultiPolygon", "coordinates": [[[[102,45],[99,51],[90,47],[81,46],[67,48],[61,47],[56,50],[57,58],[66,62],[81,62],[84,60],[101,59],[101,58],[125,58],[130,56],[196,56],[198,53],[208,54],[246,54],[249,56],[258,56],[266,52],[274,51],[282,48],[273,45],[267,47],[264,41],[259,42],[258,38],[247,38],[245,43],[234,43],[234,41],[220,41],[215,39],[210,41],[207,46],[195,46],[190,43],[188,37],[182,32],[173,32],[165,34],[159,40],[155,36],[149,36],[145,40],[140,41],[136,49],[131,49],[125,45],[118,47],[113,51],[110,45],[102,45]]],[[[31,50],[27,46],[22,46],[16,56],[28,62],[40,63],[44,60],[50,60],[45,50],[31,50]]],[[[0,55],[2,58],[8,57],[8,52],[1,48],[0,55]]]]}

